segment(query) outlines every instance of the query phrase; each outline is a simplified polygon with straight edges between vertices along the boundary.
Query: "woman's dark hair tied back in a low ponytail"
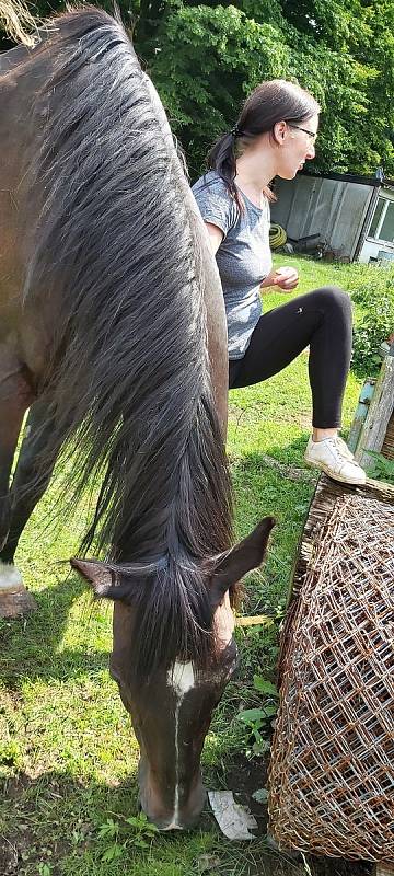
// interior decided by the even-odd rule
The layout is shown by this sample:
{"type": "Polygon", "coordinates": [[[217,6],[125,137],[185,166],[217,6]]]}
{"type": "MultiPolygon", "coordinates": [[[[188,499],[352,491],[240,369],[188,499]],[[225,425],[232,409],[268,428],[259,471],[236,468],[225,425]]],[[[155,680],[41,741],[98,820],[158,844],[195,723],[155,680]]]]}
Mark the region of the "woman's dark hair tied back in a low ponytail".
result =
{"type": "MultiPolygon", "coordinates": [[[[209,169],[221,176],[241,211],[244,208],[234,184],[237,155],[255,137],[273,131],[277,122],[299,125],[320,113],[320,110],[317,101],[309,91],[285,79],[262,82],[252,91],[242,107],[236,125],[229,134],[219,137],[207,158],[209,169]]],[[[264,193],[269,200],[274,199],[270,188],[265,188],[264,193]]]]}

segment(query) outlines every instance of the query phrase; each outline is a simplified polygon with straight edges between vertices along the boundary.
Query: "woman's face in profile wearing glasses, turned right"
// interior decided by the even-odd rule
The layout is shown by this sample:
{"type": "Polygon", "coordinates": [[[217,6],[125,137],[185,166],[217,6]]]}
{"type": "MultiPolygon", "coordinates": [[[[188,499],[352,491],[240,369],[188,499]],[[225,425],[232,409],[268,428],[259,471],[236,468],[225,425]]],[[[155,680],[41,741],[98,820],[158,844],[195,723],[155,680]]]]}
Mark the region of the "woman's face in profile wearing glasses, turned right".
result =
{"type": "Polygon", "coordinates": [[[305,122],[278,122],[274,136],[278,145],[277,175],[282,180],[293,180],[305,161],[315,155],[315,141],[318,128],[318,115],[310,116],[305,122]]]}

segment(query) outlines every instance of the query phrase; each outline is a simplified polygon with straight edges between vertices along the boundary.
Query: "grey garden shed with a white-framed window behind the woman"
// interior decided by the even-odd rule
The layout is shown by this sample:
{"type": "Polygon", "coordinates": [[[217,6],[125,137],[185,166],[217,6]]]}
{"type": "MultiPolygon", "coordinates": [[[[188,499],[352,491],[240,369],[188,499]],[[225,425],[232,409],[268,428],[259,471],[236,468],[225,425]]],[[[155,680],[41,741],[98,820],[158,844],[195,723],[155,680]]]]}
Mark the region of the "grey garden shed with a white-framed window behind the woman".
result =
{"type": "Polygon", "coordinates": [[[394,180],[300,173],[277,180],[273,222],[290,240],[316,235],[334,258],[394,263],[394,180]]]}

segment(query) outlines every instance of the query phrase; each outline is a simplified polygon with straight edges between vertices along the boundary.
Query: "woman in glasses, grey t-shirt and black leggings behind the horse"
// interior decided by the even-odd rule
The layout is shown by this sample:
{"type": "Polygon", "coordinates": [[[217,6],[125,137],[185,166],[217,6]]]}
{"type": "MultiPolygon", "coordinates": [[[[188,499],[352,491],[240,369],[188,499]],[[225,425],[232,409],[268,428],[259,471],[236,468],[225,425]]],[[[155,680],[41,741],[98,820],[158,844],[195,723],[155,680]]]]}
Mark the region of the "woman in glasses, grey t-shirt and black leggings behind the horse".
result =
{"type": "Polygon", "coordinates": [[[296,268],[273,269],[269,183],[292,180],[314,158],[320,106],[283,80],[263,82],[240,118],[211,149],[210,171],[193,186],[222,281],[229,333],[230,389],[266,380],[310,346],[312,436],[305,460],[336,481],[366,473],[338,435],[351,354],[351,307],[336,287],[316,289],[262,315],[260,290],[296,289],[296,268]]]}

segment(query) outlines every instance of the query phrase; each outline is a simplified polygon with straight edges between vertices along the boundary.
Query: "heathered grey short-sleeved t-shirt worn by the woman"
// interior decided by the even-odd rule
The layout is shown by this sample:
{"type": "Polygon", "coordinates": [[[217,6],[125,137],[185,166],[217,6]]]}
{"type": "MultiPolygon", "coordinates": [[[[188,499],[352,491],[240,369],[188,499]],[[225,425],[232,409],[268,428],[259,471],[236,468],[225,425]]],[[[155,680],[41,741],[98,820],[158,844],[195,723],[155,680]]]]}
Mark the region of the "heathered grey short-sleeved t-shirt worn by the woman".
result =
{"type": "Polygon", "coordinates": [[[242,359],[262,315],[260,283],[269,274],[269,204],[259,209],[241,193],[240,212],[223,181],[209,171],[193,186],[202,219],[223,232],[216,260],[228,320],[229,357],[242,359]]]}

